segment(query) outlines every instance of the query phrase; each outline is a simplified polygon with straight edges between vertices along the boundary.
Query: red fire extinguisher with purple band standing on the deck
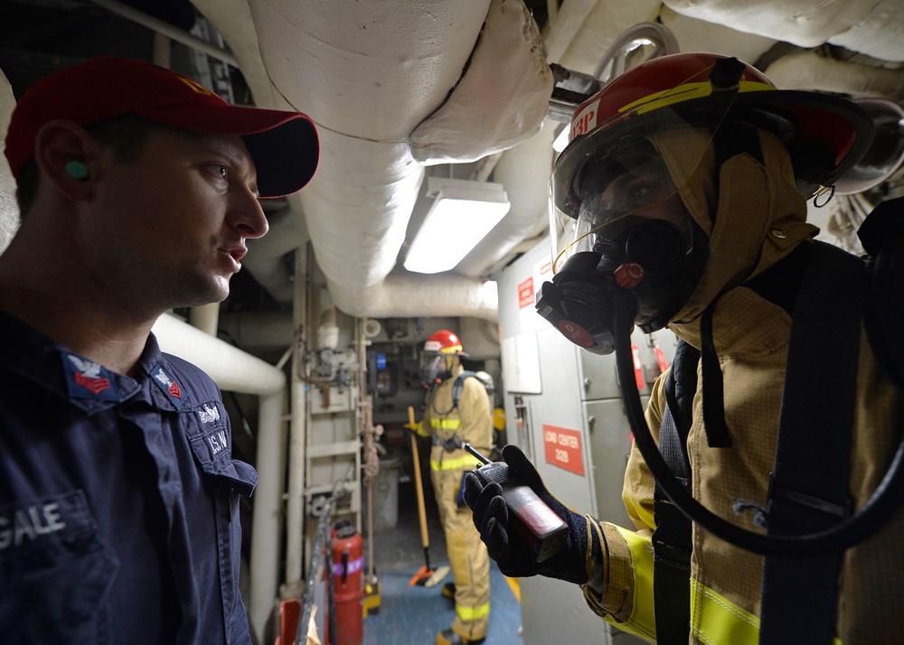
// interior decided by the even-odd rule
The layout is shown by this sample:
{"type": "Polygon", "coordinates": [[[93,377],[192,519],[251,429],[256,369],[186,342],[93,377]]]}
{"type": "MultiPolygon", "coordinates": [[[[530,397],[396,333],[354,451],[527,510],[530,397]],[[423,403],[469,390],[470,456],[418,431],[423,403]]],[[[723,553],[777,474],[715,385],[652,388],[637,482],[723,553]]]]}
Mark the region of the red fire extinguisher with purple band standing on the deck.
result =
{"type": "Polygon", "coordinates": [[[364,538],[351,522],[336,522],[333,528],[335,645],[361,645],[364,639],[363,569],[364,538]]]}

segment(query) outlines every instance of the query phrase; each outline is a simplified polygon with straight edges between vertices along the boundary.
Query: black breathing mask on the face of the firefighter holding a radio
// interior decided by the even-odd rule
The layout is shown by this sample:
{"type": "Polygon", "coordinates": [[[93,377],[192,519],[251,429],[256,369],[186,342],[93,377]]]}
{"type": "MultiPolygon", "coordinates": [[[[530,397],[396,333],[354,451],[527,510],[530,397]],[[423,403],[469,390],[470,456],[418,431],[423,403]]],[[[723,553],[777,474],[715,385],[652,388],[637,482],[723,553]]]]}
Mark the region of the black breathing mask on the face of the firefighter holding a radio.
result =
{"type": "Polygon", "coordinates": [[[707,240],[684,209],[664,163],[646,141],[607,155],[580,178],[571,240],[537,310],[570,341],[598,354],[615,350],[613,306],[633,307],[644,332],[665,326],[687,302],[707,240]],[[563,259],[564,258],[564,259],[563,259]]]}

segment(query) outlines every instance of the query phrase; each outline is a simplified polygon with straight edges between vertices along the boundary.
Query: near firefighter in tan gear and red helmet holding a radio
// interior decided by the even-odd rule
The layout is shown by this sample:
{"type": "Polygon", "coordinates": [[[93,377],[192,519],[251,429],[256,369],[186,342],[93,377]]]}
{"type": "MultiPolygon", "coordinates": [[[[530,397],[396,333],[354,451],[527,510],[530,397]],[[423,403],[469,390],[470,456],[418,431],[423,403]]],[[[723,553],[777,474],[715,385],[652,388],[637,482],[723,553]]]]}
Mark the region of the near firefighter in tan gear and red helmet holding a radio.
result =
{"type": "Polygon", "coordinates": [[[552,172],[555,275],[537,308],[579,346],[615,347],[634,526],[571,511],[507,445],[509,472],[570,530],[537,563],[499,485],[469,474],[504,575],[579,584],[592,611],[661,643],[900,642],[901,396],[862,294],[880,291],[806,222],[871,130],[844,98],[776,89],[715,54],[646,61],[579,106],[552,172]],[[645,418],[623,370],[635,325],[689,348],[645,418]]]}

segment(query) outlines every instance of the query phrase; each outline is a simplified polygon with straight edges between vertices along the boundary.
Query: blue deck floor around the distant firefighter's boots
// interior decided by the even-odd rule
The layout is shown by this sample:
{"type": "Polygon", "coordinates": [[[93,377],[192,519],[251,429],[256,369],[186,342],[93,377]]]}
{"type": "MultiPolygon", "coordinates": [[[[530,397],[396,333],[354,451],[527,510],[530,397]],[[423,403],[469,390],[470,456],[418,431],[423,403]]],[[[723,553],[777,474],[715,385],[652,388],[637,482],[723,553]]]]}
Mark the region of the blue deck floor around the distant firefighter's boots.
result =
{"type": "MultiPolygon", "coordinates": [[[[438,562],[434,567],[448,564],[438,562]]],[[[363,645],[432,645],[437,632],[448,629],[455,615],[452,601],[434,587],[410,586],[419,566],[386,571],[380,577],[380,611],[364,619],[363,645]]],[[[451,581],[451,576],[444,582],[451,581]]],[[[512,588],[490,564],[490,626],[485,645],[523,645],[519,635],[521,604],[512,588]]]]}

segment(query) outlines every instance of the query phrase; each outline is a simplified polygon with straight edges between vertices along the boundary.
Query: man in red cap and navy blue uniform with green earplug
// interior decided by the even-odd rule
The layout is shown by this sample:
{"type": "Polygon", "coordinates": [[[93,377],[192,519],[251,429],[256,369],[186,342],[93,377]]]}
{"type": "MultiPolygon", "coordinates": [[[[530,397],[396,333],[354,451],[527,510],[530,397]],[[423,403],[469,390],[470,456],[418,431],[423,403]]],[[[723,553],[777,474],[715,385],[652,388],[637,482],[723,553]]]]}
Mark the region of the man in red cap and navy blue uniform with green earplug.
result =
{"type": "Polygon", "coordinates": [[[151,327],[220,302],[260,198],[301,189],[302,114],[99,58],[29,89],[5,154],[22,224],[0,256],[0,631],[9,642],[250,641],[228,416],[151,327]]]}

